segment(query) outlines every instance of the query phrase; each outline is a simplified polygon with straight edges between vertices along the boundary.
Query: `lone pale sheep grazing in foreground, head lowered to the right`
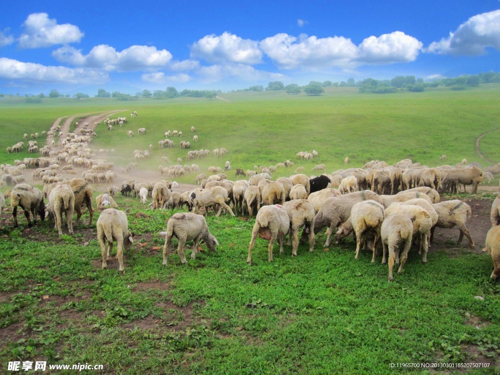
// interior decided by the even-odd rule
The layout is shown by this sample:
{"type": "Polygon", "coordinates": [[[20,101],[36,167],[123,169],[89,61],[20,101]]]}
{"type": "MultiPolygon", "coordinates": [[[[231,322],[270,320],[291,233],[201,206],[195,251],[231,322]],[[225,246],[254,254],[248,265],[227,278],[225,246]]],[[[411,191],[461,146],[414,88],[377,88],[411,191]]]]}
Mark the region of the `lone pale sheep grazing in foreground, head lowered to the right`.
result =
{"type": "MultiPolygon", "coordinates": [[[[160,233],[162,234],[162,233],[160,233]]],[[[195,259],[196,253],[199,253],[198,243],[204,241],[210,251],[215,250],[218,245],[215,238],[208,229],[205,218],[192,212],[174,213],[166,224],[165,244],[163,245],[163,265],[167,264],[166,253],[171,250],[171,240],[175,236],[178,240],[177,254],[182,264],[187,263],[184,255],[184,245],[186,241],[194,241],[192,247],[191,259],[195,259]]]]}

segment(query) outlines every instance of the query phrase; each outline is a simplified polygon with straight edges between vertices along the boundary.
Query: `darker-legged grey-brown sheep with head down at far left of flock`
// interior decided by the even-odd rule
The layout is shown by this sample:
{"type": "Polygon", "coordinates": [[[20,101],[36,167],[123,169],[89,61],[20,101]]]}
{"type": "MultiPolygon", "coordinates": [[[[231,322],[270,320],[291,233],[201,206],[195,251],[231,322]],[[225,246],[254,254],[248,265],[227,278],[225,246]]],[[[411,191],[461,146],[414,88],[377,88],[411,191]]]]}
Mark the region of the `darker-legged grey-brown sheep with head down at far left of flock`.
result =
{"type": "Polygon", "coordinates": [[[24,210],[24,216],[28,221],[28,226],[32,227],[30,213],[33,215],[33,223],[36,224],[36,214],[40,215],[40,219],[45,218],[45,203],[43,202],[43,193],[34,186],[27,183],[16,184],[10,192],[10,205],[13,207],[12,215],[14,216],[14,227],[18,227],[17,222],[17,207],[24,210]]]}

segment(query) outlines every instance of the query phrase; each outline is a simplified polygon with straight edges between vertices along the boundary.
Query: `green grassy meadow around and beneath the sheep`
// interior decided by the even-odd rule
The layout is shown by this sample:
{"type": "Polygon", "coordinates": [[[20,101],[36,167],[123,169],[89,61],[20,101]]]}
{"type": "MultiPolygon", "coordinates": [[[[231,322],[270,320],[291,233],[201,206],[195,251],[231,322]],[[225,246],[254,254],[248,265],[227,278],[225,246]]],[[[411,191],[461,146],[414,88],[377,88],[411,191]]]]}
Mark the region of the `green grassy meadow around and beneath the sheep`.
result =
{"type": "MultiPolygon", "coordinates": [[[[229,101],[64,98],[26,104],[22,98],[2,99],[0,160],[31,156],[26,148],[7,154],[5,147],[22,140],[23,133],[48,130],[58,117],[81,114],[78,120],[84,113],[123,109],[113,117],[125,115],[127,124],[108,131],[100,123],[91,147],[114,148],[106,158],[125,165],[133,161],[134,149],[153,144],[139,170],[156,170],[161,156],[184,159],[178,138],[170,137],[175,147],[158,148],[166,130],[181,130],[191,149],[228,149],[223,159],[210,155],[194,161],[201,169],[223,166],[226,160],[244,170],[290,160],[312,173],[317,163],[326,164],[327,171],[344,168],[345,156],[348,166],[360,167],[371,159],[391,164],[405,157],[438,165],[442,154],[448,164],[465,157],[485,166],[489,163],[479,158],[475,142],[490,131],[480,151],[500,161],[495,147],[500,135],[494,131],[500,127],[499,94],[500,84],[487,84],[464,91],[383,95],[347,88],[330,88],[318,97],[220,95],[229,101]],[[136,118],[130,118],[133,110],[136,118]],[[145,135],[137,134],[139,127],[146,128],[145,135]],[[128,129],[135,133],[132,138],[128,129]],[[312,161],[295,156],[312,149],[319,153],[312,161]]],[[[193,180],[192,175],[179,179],[193,180]]],[[[101,185],[95,192],[103,190],[101,185]]],[[[494,196],[476,198],[489,204],[494,196]]],[[[220,244],[216,250],[209,252],[202,244],[201,253],[190,259],[186,249],[186,265],[174,250],[163,266],[164,238],[158,233],[176,210],[146,210],[138,199],[121,195],[116,202],[127,209],[136,242],[125,252],[124,275],[115,260],[109,269],[100,268],[95,224],[87,225],[88,214],[75,225],[73,236],[58,237],[52,222],[24,230],[26,221],[20,217],[20,228],[14,229],[11,210],[3,213],[0,372],[12,372],[6,368],[9,361],[32,360],[102,364],[103,370],[82,373],[130,375],[500,373],[494,364],[458,367],[499,360],[500,286],[489,278],[492,263],[486,254],[454,241],[429,253],[426,264],[410,252],[403,274],[389,283],[380,257],[371,263],[371,253],[361,252],[355,260],[350,237],[324,248],[325,234],[320,233],[313,252],[300,244],[294,258],[290,246],[279,254],[275,245],[271,263],[267,242],[257,239],[249,266],[245,260],[254,219],[210,214],[206,220],[220,244]],[[436,364],[437,372],[427,363],[436,364]]],[[[96,212],[94,221],[97,217],[96,212]]],[[[457,229],[446,230],[458,236],[457,229]]]]}

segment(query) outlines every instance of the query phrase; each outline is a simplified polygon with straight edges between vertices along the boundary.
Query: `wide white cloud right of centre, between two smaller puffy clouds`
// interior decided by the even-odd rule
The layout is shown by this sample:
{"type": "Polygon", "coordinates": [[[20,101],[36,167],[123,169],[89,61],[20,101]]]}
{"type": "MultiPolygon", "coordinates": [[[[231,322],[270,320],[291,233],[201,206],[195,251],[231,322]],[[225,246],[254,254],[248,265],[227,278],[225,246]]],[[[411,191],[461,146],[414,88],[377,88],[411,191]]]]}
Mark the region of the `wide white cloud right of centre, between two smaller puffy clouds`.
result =
{"type": "Polygon", "coordinates": [[[285,69],[348,66],[357,56],[357,47],[343,36],[317,38],[301,34],[298,38],[279,33],[260,41],[260,48],[285,69]]]}

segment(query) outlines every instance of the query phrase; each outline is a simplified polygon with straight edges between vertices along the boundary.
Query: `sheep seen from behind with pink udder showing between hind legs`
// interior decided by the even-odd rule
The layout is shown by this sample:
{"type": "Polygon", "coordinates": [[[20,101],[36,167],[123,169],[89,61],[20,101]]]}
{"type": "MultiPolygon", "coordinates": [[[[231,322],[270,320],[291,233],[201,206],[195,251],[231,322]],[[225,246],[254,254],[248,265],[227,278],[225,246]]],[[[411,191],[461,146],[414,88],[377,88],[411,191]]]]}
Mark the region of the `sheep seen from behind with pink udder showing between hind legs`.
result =
{"type": "Polygon", "coordinates": [[[246,262],[251,265],[251,252],[255,246],[255,239],[257,235],[260,238],[269,241],[268,246],[268,260],[272,261],[272,247],[276,239],[279,243],[279,252],[283,252],[283,242],[290,228],[290,218],[286,211],[278,204],[267,205],[257,212],[255,224],[252,228],[250,245],[248,247],[248,256],[246,262]]]}

